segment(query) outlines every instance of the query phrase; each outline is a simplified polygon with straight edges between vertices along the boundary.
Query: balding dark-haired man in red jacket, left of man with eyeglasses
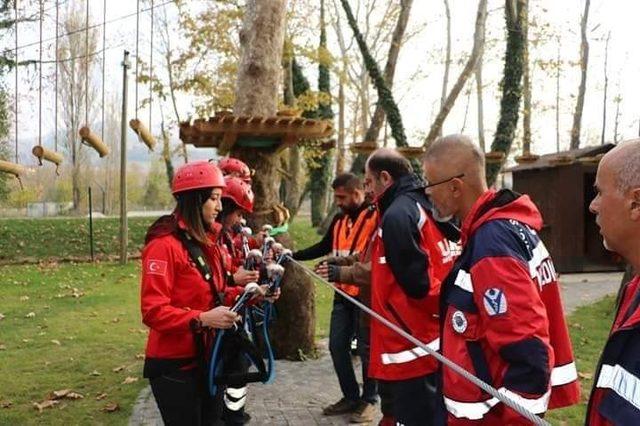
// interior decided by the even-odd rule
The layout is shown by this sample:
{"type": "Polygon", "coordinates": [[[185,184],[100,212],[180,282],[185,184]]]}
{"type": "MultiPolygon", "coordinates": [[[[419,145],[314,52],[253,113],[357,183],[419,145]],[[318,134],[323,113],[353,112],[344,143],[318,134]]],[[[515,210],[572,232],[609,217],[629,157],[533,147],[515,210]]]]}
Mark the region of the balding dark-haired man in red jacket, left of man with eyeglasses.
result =
{"type": "MultiPolygon", "coordinates": [[[[457,230],[433,219],[424,184],[396,151],[371,154],[365,186],[375,197],[380,217],[372,241],[371,307],[438,349],[440,283],[457,253],[450,241],[457,239],[457,230]]],[[[423,349],[371,322],[369,374],[390,390],[396,424],[437,424],[437,368],[423,349]]]]}

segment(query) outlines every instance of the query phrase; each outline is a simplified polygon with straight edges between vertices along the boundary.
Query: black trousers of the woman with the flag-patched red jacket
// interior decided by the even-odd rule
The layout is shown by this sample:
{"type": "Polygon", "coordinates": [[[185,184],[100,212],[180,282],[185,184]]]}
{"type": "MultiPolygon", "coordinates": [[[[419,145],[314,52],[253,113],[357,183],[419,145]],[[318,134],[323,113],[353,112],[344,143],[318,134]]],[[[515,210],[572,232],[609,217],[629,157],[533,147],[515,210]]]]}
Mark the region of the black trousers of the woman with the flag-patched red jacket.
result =
{"type": "Polygon", "coordinates": [[[149,379],[162,421],[167,426],[211,426],[221,411],[222,400],[209,396],[198,369],[174,370],[149,379]]]}

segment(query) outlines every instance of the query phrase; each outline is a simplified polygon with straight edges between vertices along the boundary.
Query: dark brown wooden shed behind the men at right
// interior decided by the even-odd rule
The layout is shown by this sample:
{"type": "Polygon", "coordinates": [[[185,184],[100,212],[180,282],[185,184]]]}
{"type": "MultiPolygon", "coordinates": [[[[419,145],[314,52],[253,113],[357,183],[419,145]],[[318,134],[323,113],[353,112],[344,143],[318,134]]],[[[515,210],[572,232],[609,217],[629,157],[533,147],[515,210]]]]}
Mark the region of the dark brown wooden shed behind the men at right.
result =
{"type": "Polygon", "coordinates": [[[558,272],[624,269],[621,259],[603,247],[595,217],[589,212],[598,163],[614,146],[543,155],[506,170],[512,173],[513,190],[528,194],[542,212],[541,237],[558,272]]]}

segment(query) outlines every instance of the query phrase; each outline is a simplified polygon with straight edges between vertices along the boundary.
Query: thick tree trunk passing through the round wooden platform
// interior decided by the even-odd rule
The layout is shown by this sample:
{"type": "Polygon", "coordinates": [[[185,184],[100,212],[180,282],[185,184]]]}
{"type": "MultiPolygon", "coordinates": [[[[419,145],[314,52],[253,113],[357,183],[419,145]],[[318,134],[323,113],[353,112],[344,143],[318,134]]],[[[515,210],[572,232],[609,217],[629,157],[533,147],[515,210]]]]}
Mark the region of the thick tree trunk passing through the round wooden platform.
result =
{"type": "MultiPolygon", "coordinates": [[[[248,0],[240,32],[242,55],[236,84],[234,114],[274,116],[277,111],[282,48],[284,44],[285,0],[248,0]]],[[[278,201],[278,156],[259,148],[234,146],[231,155],[256,170],[253,178],[254,226],[268,222],[271,207],[278,201]]],[[[295,265],[287,266],[282,297],[276,304],[277,326],[272,327],[276,356],[299,358],[314,349],[314,287],[295,265]]]]}

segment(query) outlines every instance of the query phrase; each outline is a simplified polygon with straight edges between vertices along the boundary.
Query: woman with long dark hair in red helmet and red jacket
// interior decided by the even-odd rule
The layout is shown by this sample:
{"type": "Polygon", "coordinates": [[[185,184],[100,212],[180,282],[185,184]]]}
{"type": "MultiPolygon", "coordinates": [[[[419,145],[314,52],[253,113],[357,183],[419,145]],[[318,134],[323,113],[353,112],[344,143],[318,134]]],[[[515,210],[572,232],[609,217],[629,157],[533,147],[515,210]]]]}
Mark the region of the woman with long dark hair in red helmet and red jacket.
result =
{"type": "Polygon", "coordinates": [[[211,423],[214,404],[199,367],[213,330],[239,320],[223,306],[241,289],[225,288],[216,244],[224,186],[210,162],[179,168],[171,188],[177,206],[149,228],[142,252],[142,320],[150,328],[144,377],[167,425],[211,423]]]}

